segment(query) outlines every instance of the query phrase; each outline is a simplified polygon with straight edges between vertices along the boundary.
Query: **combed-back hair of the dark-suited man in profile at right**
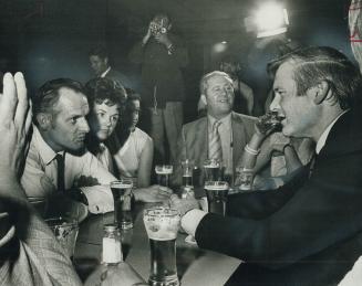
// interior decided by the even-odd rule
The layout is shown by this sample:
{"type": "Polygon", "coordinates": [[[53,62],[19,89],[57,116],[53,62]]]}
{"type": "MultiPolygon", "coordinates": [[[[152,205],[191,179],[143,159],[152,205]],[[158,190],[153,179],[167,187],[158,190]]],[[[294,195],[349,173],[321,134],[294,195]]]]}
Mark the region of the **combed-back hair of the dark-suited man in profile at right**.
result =
{"type": "Polygon", "coordinates": [[[329,84],[335,103],[342,109],[353,106],[362,88],[362,77],[356,66],[341,52],[329,46],[298,49],[268,64],[268,72],[275,76],[279,66],[291,62],[297,95],[303,95],[322,81],[329,84]]]}

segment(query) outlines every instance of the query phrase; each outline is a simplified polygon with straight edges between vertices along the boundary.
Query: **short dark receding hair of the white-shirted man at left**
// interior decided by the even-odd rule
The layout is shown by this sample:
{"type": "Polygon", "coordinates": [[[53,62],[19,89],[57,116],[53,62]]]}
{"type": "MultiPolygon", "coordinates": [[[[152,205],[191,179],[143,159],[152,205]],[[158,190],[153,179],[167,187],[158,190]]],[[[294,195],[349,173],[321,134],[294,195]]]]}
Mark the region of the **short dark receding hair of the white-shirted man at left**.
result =
{"type": "MultiPolygon", "coordinates": [[[[33,114],[54,113],[54,106],[59,100],[59,91],[69,88],[75,93],[84,94],[84,87],[80,82],[71,78],[56,78],[44,83],[33,98],[33,114]]],[[[35,116],[34,116],[35,118],[35,116]]]]}

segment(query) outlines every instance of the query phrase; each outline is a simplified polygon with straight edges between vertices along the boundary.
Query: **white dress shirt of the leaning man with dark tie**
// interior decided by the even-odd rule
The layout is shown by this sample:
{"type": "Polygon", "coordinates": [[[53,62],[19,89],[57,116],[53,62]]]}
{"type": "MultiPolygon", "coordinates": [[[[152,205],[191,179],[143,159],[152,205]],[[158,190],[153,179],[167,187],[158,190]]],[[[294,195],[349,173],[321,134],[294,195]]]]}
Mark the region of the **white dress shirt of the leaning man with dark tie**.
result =
{"type": "MultiPolygon", "coordinates": [[[[82,191],[89,201],[92,213],[113,211],[113,197],[108,187],[116,178],[90,151],[75,156],[63,152],[65,190],[72,188],[77,180],[96,179],[100,186],[83,187],[82,191]]],[[[38,128],[33,126],[25,168],[21,184],[29,197],[46,198],[56,192],[58,163],[56,152],[44,141],[38,128]]]]}

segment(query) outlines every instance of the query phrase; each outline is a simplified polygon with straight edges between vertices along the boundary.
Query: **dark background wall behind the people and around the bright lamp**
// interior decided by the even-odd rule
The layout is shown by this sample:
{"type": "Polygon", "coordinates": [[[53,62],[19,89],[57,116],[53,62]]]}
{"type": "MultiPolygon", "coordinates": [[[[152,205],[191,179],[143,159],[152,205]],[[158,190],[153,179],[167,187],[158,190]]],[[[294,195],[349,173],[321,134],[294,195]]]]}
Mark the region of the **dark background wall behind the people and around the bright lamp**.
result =
{"type": "MultiPolygon", "coordinates": [[[[156,12],[173,19],[173,30],[188,47],[185,70],[185,119],[194,119],[198,82],[218,61],[232,55],[241,64],[242,80],[256,92],[260,105],[266,96],[266,64],[272,49],[256,47],[244,19],[266,1],[251,0],[0,0],[0,68],[22,71],[31,93],[48,80],[92,77],[87,52],[106,43],[112,65],[137,84],[139,67],[128,63],[132,45],[145,34],[156,12]],[[224,51],[215,44],[227,41],[224,51]]],[[[352,57],[347,0],[283,1],[289,13],[289,36],[306,45],[330,45],[352,57]]],[[[262,113],[261,109],[256,110],[262,113]]]]}

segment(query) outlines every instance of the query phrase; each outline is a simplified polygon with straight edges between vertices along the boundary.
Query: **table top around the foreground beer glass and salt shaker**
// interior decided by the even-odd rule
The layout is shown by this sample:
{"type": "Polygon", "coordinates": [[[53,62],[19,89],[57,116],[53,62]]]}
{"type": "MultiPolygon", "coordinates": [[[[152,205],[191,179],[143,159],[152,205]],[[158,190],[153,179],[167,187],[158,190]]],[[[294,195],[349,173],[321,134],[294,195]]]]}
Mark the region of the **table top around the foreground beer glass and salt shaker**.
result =
{"type": "MultiPolygon", "coordinates": [[[[134,227],[122,232],[122,248],[125,261],[147,280],[149,273],[148,237],[142,220],[142,210],[151,204],[138,204],[134,227]]],[[[81,278],[99,265],[102,253],[103,225],[112,223],[113,213],[92,215],[80,225],[74,253],[74,265],[81,278]]],[[[224,285],[240,264],[239,259],[199,248],[185,242],[186,234],[178,233],[176,240],[177,273],[183,286],[224,285]]]]}

